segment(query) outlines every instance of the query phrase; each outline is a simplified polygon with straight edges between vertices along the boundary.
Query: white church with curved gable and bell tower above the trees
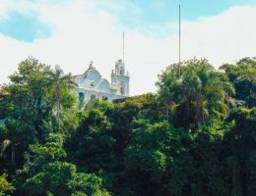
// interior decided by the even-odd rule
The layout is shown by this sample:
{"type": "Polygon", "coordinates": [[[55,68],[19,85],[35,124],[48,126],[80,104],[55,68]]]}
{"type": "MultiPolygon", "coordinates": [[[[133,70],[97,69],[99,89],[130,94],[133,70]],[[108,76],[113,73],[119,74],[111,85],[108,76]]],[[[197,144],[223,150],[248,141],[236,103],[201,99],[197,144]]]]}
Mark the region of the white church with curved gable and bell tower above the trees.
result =
{"type": "Polygon", "coordinates": [[[92,96],[108,101],[129,96],[129,79],[130,76],[128,72],[125,73],[122,60],[115,63],[115,70],[111,73],[111,83],[101,77],[92,62],[85,73],[75,76],[79,99],[85,102],[89,101],[92,96]]]}

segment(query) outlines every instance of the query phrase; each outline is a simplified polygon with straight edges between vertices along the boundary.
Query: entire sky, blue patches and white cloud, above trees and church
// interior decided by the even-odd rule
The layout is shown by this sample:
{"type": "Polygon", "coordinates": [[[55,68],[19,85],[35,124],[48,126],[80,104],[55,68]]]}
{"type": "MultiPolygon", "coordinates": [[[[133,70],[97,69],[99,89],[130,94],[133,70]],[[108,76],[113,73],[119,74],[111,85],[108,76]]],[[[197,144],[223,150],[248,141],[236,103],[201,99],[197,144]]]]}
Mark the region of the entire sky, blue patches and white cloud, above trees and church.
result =
{"type": "Polygon", "coordinates": [[[65,73],[90,61],[103,77],[122,58],[132,95],[156,92],[158,73],[181,60],[207,58],[218,69],[256,56],[256,0],[0,0],[0,84],[29,56],[65,73]]]}

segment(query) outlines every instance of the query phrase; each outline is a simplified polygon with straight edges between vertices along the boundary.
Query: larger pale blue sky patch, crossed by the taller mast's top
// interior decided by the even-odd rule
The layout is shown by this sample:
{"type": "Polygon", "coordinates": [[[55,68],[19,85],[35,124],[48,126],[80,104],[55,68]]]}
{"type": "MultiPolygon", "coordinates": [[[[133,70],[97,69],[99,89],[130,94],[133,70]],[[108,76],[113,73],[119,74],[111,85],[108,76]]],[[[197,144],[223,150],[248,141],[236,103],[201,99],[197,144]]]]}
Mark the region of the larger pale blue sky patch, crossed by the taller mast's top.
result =
{"type": "Polygon", "coordinates": [[[178,5],[182,21],[195,21],[216,16],[232,6],[255,3],[255,0],[101,0],[96,8],[115,16],[116,25],[123,29],[135,28],[147,36],[165,38],[177,33],[178,5]]]}

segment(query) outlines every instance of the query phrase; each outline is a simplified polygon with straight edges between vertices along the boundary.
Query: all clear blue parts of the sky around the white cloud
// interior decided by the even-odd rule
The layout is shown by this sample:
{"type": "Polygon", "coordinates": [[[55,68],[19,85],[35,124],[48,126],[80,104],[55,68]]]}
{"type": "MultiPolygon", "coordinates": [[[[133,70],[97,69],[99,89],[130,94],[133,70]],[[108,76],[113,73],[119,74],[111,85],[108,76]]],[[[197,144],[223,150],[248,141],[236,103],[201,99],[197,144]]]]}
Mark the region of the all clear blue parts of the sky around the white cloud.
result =
{"type": "MultiPolygon", "coordinates": [[[[32,1],[31,1],[32,2],[32,1]]],[[[35,2],[35,1],[34,1],[35,2]]],[[[67,6],[68,0],[49,1],[52,5],[67,6]]],[[[95,12],[108,12],[115,17],[115,25],[125,29],[138,29],[148,36],[164,38],[176,33],[178,5],[181,5],[182,21],[215,16],[231,6],[255,5],[252,0],[99,0],[95,12]],[[161,28],[161,30],[159,30],[161,28]]],[[[12,10],[0,19],[0,33],[12,38],[32,42],[35,38],[48,37],[51,26],[38,20],[35,12],[12,10]]]]}

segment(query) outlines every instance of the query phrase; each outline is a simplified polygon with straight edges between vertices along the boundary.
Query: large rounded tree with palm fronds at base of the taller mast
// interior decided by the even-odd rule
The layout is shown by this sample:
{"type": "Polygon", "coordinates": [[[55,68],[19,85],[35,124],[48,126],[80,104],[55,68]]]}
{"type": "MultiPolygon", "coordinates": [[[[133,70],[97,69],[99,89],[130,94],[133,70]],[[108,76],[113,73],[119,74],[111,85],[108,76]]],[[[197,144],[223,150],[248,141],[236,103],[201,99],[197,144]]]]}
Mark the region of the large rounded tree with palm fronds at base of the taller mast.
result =
{"type": "Polygon", "coordinates": [[[169,66],[157,82],[160,100],[177,111],[174,118],[182,118],[186,127],[195,128],[212,117],[226,115],[228,93],[234,90],[224,73],[216,72],[205,59],[184,62],[180,78],[176,70],[175,64],[169,66]]]}

